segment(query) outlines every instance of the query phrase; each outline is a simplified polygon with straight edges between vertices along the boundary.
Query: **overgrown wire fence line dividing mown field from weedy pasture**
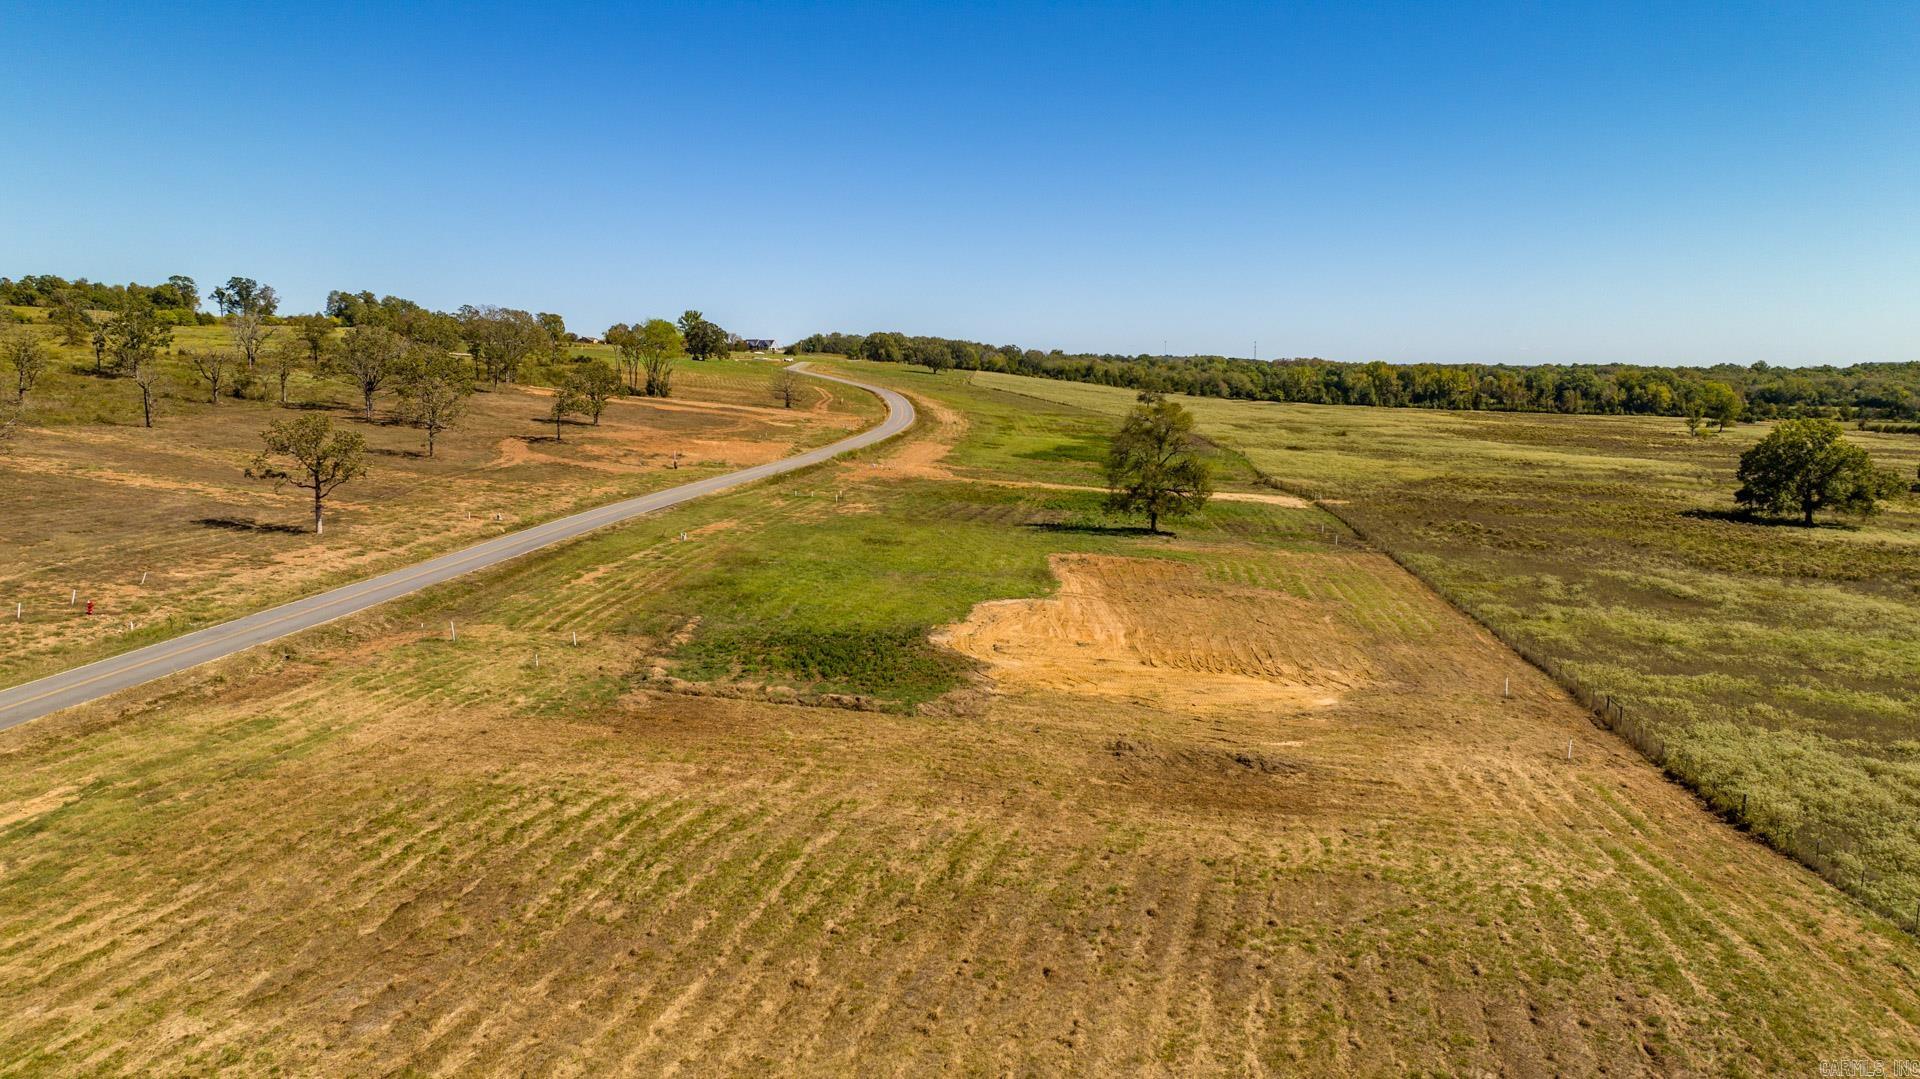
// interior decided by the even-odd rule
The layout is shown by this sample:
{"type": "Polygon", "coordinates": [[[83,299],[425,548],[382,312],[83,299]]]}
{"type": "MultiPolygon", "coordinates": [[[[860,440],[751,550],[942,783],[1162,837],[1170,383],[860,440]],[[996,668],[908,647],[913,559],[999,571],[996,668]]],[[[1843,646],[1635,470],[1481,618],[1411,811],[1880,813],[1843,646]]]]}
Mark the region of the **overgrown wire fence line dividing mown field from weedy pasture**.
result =
{"type": "MultiPolygon", "coordinates": [[[[1895,874],[1878,870],[1860,856],[1862,843],[1857,833],[1834,824],[1803,822],[1799,820],[1799,812],[1774,812],[1774,806],[1764,804],[1753,791],[1722,783],[1705,783],[1697,776],[1674,768],[1667,735],[1663,733],[1663,724],[1659,722],[1661,716],[1653,708],[1644,703],[1632,703],[1630,707],[1628,701],[1617,697],[1615,693],[1582,682],[1526,637],[1490,622],[1475,611],[1473,605],[1461,601],[1461,597],[1455,595],[1444,582],[1432,580],[1428,574],[1421,572],[1421,568],[1402,557],[1400,551],[1377,543],[1365,528],[1354,522],[1352,516],[1340,513],[1338,505],[1323,497],[1321,492],[1306,490],[1300,484],[1288,484],[1263,472],[1260,478],[1265,486],[1308,499],[1315,509],[1338,520],[1371,551],[1386,555],[1394,561],[1394,564],[1413,574],[1413,578],[1432,589],[1434,595],[1444,599],[1450,607],[1486,630],[1496,641],[1526,660],[1528,666],[1551,678],[1594,716],[1596,726],[1620,735],[1642,756],[1657,764],[1668,779],[1692,791],[1711,812],[1734,827],[1761,837],[1774,851],[1780,851],[1782,854],[1820,874],[1868,910],[1874,910],[1897,925],[1905,925],[1912,933],[1920,933],[1920,897],[1903,904],[1887,900],[1878,885],[1895,877],[1895,874]]],[[[1667,728],[1670,730],[1670,724],[1667,724],[1667,728]]]]}

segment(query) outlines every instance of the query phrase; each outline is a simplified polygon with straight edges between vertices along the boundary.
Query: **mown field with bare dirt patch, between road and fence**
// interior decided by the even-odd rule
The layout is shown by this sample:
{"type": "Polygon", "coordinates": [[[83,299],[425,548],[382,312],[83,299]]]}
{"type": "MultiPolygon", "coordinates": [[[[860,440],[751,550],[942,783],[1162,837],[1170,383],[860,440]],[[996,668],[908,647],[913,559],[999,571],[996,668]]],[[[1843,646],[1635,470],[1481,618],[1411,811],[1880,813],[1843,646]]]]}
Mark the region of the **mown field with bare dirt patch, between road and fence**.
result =
{"type": "Polygon", "coordinates": [[[904,444],[12,731],[0,1071],[1920,1056],[1910,937],[1331,516],[860,371],[904,444]]]}

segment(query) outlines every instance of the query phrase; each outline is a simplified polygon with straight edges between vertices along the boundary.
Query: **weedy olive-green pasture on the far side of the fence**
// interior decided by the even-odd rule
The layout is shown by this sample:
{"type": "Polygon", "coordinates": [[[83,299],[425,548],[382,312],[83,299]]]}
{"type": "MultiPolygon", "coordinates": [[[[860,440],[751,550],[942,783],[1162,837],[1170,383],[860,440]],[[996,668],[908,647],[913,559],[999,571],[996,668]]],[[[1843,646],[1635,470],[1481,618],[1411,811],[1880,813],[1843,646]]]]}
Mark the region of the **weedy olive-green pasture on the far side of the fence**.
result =
{"type": "MultiPolygon", "coordinates": [[[[1131,394],[981,374],[1117,415],[1131,394]]],[[[1920,499],[1816,530],[1732,520],[1741,426],[1190,399],[1202,430],[1645,722],[1718,808],[1920,910],[1920,499]]],[[[1849,432],[1912,474],[1920,440],[1849,432]]]]}

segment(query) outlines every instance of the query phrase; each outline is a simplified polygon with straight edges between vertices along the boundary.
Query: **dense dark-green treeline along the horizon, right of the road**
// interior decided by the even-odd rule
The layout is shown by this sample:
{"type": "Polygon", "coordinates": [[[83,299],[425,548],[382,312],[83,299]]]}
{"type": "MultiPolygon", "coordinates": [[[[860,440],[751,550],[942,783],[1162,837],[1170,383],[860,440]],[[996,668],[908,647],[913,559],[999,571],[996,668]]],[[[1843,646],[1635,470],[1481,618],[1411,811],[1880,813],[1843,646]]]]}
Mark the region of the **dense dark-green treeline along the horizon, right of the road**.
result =
{"type": "Polygon", "coordinates": [[[1089,355],[904,334],[812,334],[789,353],[839,353],[935,371],[1004,371],[1133,390],[1409,409],[1707,415],[1724,420],[1822,415],[1920,419],[1920,363],[1853,367],[1517,367],[1503,363],[1338,363],[1225,355],[1089,355]]]}

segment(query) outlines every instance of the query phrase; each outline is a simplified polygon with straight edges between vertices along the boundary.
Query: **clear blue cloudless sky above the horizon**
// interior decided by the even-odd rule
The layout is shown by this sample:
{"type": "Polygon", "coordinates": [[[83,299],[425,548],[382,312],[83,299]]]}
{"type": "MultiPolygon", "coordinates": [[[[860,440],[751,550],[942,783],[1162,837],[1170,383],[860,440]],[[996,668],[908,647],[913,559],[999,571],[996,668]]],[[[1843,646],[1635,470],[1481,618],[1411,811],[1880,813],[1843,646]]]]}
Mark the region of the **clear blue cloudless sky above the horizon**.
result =
{"type": "Polygon", "coordinates": [[[0,275],[1029,348],[1920,359],[1920,6],[0,0],[0,275]]]}

